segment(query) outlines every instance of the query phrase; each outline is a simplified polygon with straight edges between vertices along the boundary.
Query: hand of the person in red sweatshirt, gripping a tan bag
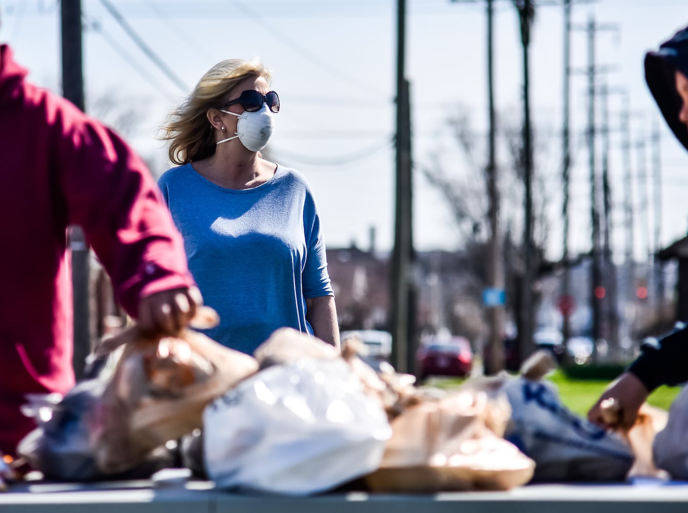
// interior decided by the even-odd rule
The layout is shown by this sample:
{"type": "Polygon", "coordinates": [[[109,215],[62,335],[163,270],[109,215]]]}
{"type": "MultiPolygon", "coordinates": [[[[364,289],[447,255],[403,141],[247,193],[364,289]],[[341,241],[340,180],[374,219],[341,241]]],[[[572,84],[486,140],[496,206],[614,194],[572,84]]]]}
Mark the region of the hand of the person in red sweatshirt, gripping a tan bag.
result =
{"type": "Polygon", "coordinates": [[[147,335],[177,335],[201,305],[203,298],[197,287],[156,292],[141,299],[138,326],[147,335]]]}

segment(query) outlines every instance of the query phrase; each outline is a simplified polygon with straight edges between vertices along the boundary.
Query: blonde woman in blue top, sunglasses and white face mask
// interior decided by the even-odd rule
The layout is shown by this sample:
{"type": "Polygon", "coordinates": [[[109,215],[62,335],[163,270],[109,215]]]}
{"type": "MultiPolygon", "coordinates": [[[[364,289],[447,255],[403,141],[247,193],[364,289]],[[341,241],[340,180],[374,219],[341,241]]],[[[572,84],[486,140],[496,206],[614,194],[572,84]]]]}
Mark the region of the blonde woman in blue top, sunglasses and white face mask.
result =
{"type": "Polygon", "coordinates": [[[163,128],[177,167],[158,182],[184,237],[208,336],[252,353],[279,327],[338,347],[318,210],[305,177],[261,156],[279,96],[257,60],[213,66],[163,128]]]}

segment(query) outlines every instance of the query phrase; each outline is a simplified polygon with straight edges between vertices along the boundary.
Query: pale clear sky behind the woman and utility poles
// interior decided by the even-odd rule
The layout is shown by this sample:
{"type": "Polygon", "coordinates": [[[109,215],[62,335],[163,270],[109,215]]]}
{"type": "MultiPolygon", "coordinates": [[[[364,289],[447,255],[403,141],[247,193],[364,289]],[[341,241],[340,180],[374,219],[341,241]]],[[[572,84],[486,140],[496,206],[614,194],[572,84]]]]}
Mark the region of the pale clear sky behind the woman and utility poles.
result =
{"type": "MultiPolygon", "coordinates": [[[[169,109],[204,72],[224,58],[260,57],[272,69],[272,86],[282,109],[270,149],[275,160],[302,171],[321,210],[327,245],[355,241],[391,248],[394,231],[394,94],[396,84],[396,1],[394,0],[109,0],[163,72],[125,32],[100,0],[83,0],[86,21],[84,74],[87,98],[111,97],[140,115],[132,144],[166,168],[166,151],[153,139],[169,109]]],[[[55,0],[0,0],[0,41],[14,47],[17,60],[34,82],[58,89],[60,76],[59,3],[55,0]]],[[[407,78],[411,82],[413,160],[416,168],[440,153],[447,172],[466,184],[466,195],[480,190],[474,167],[460,158],[447,124],[452,113],[471,117],[476,161],[484,160],[486,130],[486,17],[482,2],[408,0],[407,78]]],[[[574,3],[572,21],[584,25],[594,14],[614,30],[596,36],[600,74],[610,87],[624,87],[632,107],[632,153],[647,140],[647,171],[652,171],[649,135],[661,135],[662,217],[660,245],[683,237],[688,228],[688,154],[660,120],[645,86],[643,56],[688,25],[685,0],[599,0],[574,3]]],[[[495,0],[495,102],[500,118],[517,126],[521,116],[522,58],[513,3],[495,0]]],[[[574,30],[572,67],[587,65],[587,34],[574,30]]],[[[546,180],[550,219],[549,254],[561,254],[561,111],[563,8],[542,1],[533,26],[532,117],[537,131],[537,173],[546,180]]],[[[590,184],[584,144],[587,98],[585,76],[571,80],[573,159],[571,184],[572,252],[590,240],[590,184]]],[[[614,208],[614,249],[623,251],[624,180],[619,114],[621,96],[609,98],[612,127],[610,179],[614,208]]],[[[601,142],[598,143],[598,148],[601,142]]],[[[499,163],[510,157],[499,147],[499,163]]],[[[636,185],[641,183],[635,177],[636,185]]],[[[652,188],[636,189],[639,194],[652,188]]],[[[416,247],[453,249],[462,243],[442,196],[420,173],[414,175],[416,247]]],[[[507,193],[510,193],[508,190],[507,193]]],[[[652,210],[652,208],[650,208],[652,210]]],[[[652,242],[654,216],[636,210],[636,252],[652,242]]],[[[522,212],[506,212],[517,218],[522,212]]]]}

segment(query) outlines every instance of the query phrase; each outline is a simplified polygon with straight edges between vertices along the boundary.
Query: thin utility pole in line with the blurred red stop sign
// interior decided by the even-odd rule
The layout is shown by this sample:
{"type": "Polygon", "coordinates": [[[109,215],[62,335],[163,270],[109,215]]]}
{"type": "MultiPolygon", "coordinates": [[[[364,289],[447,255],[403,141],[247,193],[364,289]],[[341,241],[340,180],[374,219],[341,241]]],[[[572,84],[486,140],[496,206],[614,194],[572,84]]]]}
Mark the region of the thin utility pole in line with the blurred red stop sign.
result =
{"type": "Polygon", "coordinates": [[[570,116],[570,70],[571,60],[571,0],[563,2],[563,127],[561,129],[561,182],[563,182],[563,201],[561,205],[563,215],[563,280],[561,282],[561,316],[563,318],[561,332],[563,334],[564,345],[568,344],[571,336],[571,313],[573,307],[573,296],[571,294],[571,270],[568,256],[568,194],[569,194],[569,171],[571,167],[571,144],[569,140],[569,116],[570,116]]]}

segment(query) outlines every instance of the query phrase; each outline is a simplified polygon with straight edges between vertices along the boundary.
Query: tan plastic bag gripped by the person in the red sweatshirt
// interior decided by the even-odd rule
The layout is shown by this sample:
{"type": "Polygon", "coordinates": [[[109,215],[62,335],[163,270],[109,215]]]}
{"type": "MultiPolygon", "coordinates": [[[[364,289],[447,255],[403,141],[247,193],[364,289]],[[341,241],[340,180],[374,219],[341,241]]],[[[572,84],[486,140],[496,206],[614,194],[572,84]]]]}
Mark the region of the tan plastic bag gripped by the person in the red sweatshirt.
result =
{"type": "Polygon", "coordinates": [[[258,369],[251,356],[192,329],[147,338],[132,327],[100,352],[122,343],[103,400],[88,419],[96,464],[107,473],[127,470],[155,447],[201,428],[206,404],[258,369]]]}

